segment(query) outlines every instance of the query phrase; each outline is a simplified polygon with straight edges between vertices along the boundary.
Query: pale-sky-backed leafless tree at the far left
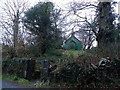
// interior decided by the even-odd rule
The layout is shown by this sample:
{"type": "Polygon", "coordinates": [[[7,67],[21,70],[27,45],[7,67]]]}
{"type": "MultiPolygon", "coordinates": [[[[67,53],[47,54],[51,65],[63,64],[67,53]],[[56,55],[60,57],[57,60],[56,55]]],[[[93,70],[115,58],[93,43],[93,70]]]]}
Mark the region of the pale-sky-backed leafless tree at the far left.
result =
{"type": "Polygon", "coordinates": [[[15,51],[17,51],[18,48],[18,38],[19,33],[21,30],[23,30],[22,26],[22,17],[24,15],[25,10],[28,8],[28,1],[25,0],[5,0],[2,2],[1,8],[1,20],[0,20],[0,26],[3,28],[4,32],[7,34],[4,34],[4,37],[8,39],[7,37],[10,35],[13,43],[15,51]]]}

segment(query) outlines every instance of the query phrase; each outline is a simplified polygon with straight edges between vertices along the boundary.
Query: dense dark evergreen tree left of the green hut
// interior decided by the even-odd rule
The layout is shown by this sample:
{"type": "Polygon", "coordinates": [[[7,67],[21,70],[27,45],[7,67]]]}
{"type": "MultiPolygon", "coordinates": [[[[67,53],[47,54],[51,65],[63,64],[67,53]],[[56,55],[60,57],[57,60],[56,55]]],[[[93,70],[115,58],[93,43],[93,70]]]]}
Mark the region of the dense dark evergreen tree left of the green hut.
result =
{"type": "Polygon", "coordinates": [[[57,28],[58,18],[59,10],[55,10],[51,2],[39,2],[25,13],[24,25],[34,35],[34,44],[41,54],[60,45],[57,44],[61,38],[61,31],[57,28]]]}

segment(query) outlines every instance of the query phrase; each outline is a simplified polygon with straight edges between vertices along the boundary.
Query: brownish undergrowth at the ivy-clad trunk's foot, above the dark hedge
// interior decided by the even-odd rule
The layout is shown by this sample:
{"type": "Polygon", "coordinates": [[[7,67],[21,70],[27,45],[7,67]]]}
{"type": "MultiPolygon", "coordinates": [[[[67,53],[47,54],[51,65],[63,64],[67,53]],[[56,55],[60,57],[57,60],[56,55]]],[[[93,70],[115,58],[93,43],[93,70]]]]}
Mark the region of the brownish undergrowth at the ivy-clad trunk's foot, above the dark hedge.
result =
{"type": "Polygon", "coordinates": [[[88,53],[97,56],[98,58],[110,57],[110,58],[119,58],[120,57],[120,43],[110,43],[109,45],[103,45],[99,48],[92,48],[88,50],[88,53]]]}

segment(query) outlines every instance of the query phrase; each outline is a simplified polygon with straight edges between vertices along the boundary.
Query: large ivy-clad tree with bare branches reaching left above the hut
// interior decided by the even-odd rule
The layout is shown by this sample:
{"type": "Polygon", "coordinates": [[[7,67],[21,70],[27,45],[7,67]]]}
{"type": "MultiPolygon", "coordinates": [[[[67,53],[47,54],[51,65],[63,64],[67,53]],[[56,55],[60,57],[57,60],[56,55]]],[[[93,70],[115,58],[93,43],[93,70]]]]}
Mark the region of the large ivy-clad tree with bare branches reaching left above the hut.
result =
{"type": "MultiPolygon", "coordinates": [[[[74,15],[75,16],[74,18],[76,19],[74,18],[71,19],[71,22],[69,24],[70,25],[74,24],[75,29],[77,26],[77,28],[81,29],[81,30],[79,29],[80,31],[87,32],[87,33],[90,32],[92,34],[92,35],[91,34],[85,35],[86,37],[89,38],[88,40],[85,40],[85,42],[86,41],[88,42],[87,46],[89,47],[91,47],[92,45],[91,40],[95,40],[94,38],[96,38],[98,42],[98,46],[115,41],[115,34],[114,34],[115,28],[113,24],[115,20],[115,14],[113,14],[114,9],[112,7],[112,5],[115,4],[115,2],[112,2],[112,0],[110,1],[111,2],[104,2],[102,0],[99,0],[98,3],[86,2],[86,3],[72,3],[71,4],[69,13],[72,12],[70,15],[72,16],[74,15]],[[90,9],[94,11],[96,10],[97,13],[94,12],[95,14],[93,14],[93,17],[94,17],[93,20],[86,19],[86,17],[84,17],[81,14],[82,11],[85,11],[86,9],[87,10],[90,9]],[[84,25],[84,24],[87,24],[87,25],[84,25]],[[85,30],[85,28],[82,29],[83,28],[82,26],[86,26],[87,30],[85,30]]],[[[87,18],[89,18],[88,15],[87,15],[87,18]]]]}

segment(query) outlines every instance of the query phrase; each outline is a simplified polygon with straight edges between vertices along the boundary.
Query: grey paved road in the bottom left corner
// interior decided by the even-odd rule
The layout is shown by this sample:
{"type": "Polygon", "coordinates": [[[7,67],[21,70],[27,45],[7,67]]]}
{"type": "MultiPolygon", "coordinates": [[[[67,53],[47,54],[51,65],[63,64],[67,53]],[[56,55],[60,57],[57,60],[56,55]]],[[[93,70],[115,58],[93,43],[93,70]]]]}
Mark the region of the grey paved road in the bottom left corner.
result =
{"type": "Polygon", "coordinates": [[[2,88],[32,88],[30,86],[16,84],[8,80],[0,80],[0,81],[2,81],[2,88]]]}

